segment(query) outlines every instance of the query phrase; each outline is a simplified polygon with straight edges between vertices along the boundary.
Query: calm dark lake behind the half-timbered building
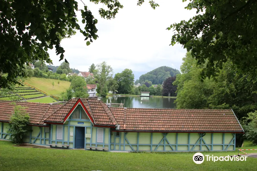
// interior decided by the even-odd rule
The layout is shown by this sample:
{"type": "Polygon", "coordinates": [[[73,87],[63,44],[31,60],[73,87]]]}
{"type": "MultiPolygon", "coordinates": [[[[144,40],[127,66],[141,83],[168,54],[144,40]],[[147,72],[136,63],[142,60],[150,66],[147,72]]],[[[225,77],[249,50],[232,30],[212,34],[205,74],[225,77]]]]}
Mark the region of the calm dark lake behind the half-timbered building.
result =
{"type": "MultiPolygon", "coordinates": [[[[168,98],[168,97],[140,97],[140,96],[124,96],[124,97],[105,97],[101,100],[106,103],[108,99],[108,103],[110,100],[112,103],[124,103],[123,107],[130,108],[160,108],[160,109],[176,109],[176,104],[174,101],[176,98],[168,98]],[[142,100],[141,100],[142,99],[142,100]],[[142,103],[141,103],[142,101],[142,103]]],[[[112,107],[119,107],[119,105],[112,105],[112,107]]]]}

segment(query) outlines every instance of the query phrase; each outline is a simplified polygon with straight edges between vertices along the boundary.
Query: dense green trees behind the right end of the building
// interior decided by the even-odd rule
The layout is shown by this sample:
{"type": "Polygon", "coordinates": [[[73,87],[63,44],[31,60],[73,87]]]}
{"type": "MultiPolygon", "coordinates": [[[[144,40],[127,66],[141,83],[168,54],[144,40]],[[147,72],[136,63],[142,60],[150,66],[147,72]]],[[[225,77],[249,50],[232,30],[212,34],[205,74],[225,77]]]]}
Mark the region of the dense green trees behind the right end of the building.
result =
{"type": "MultiPolygon", "coordinates": [[[[201,79],[200,73],[206,64],[198,65],[190,52],[183,58],[174,85],[177,86],[177,107],[180,109],[233,109],[239,120],[246,120],[246,133],[256,130],[247,126],[257,110],[257,77],[236,72],[232,62],[228,60],[223,68],[218,70],[215,79],[201,79]]],[[[257,124],[255,123],[255,127],[257,124]]],[[[246,134],[249,135],[249,134],[246,134]]],[[[251,134],[253,135],[253,134],[251,134]]],[[[256,132],[255,132],[256,135],[256,132]]],[[[249,138],[249,137],[248,137],[249,138]]],[[[257,137],[255,137],[256,139],[257,137]]]]}

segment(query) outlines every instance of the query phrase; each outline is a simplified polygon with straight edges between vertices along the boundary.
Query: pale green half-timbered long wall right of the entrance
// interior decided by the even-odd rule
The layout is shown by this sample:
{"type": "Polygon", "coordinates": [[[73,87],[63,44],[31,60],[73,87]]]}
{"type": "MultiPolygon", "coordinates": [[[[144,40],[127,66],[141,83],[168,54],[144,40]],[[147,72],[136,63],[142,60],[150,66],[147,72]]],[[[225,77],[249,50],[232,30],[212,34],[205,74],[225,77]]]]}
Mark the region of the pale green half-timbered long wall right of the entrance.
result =
{"type": "Polygon", "coordinates": [[[118,151],[235,150],[234,137],[235,137],[234,133],[200,133],[199,134],[199,133],[120,132],[120,136],[116,136],[115,132],[111,132],[111,150],[118,150],[118,151]]]}

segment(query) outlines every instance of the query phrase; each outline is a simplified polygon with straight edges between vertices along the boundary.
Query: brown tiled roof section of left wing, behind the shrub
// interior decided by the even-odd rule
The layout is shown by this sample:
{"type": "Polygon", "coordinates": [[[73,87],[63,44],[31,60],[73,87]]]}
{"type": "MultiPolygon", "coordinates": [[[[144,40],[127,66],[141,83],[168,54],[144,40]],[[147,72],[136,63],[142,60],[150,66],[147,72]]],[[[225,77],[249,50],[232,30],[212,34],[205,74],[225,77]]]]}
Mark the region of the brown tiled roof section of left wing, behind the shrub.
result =
{"type": "MultiPolygon", "coordinates": [[[[13,114],[14,105],[12,101],[0,100],[0,121],[9,122],[10,117],[13,114]]],[[[26,107],[26,112],[29,113],[29,121],[32,125],[43,125],[46,115],[61,105],[50,105],[49,103],[30,103],[30,102],[18,102],[15,101],[16,105],[26,107]]]]}

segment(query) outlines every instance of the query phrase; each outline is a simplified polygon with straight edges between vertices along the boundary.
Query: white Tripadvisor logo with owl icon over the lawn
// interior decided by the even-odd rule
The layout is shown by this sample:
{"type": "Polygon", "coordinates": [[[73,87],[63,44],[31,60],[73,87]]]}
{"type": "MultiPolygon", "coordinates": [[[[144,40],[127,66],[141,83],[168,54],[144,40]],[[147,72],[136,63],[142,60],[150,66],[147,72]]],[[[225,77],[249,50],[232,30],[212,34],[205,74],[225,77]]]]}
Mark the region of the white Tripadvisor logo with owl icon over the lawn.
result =
{"type": "Polygon", "coordinates": [[[196,164],[201,164],[202,162],[204,162],[204,156],[206,157],[206,161],[212,161],[212,162],[216,162],[216,161],[246,161],[247,156],[213,156],[213,155],[203,155],[200,152],[197,152],[194,154],[193,156],[193,161],[196,164]]]}

